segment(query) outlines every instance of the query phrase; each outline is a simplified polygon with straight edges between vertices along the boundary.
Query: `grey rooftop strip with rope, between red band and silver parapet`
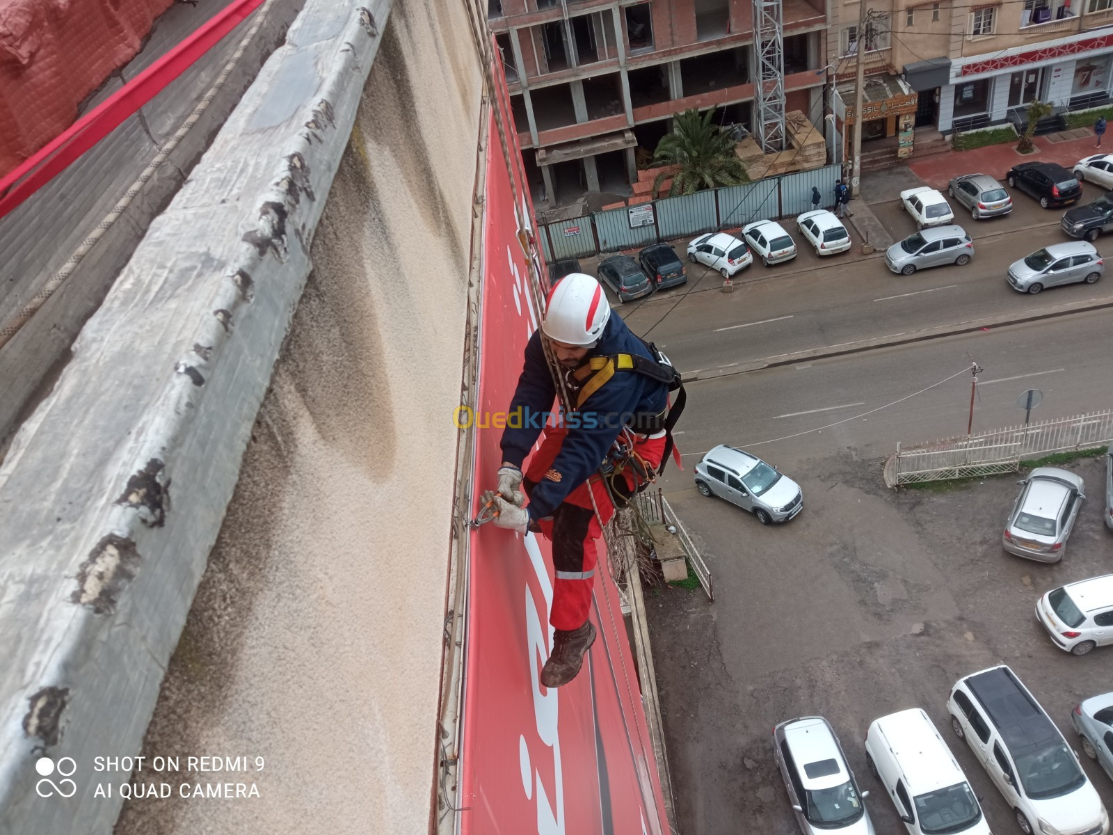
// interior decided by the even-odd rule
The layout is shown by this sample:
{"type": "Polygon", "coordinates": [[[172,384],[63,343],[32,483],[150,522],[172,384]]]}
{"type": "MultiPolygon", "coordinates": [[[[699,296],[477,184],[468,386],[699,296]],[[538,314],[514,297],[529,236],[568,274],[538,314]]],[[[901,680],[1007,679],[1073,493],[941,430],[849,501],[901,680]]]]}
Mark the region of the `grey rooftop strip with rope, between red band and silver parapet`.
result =
{"type": "MultiPolygon", "coordinates": [[[[89,106],[116,92],[188,32],[214,17],[226,0],[176,3],[155,23],[144,51],[112,73],[89,106]]],[[[259,67],[282,43],[303,0],[277,0],[204,116],[141,185],[131,205],[102,235],[66,283],[0,348],[0,456],[22,419],[49,393],[69,360],[73,340],[128,263],[150,222],[181,187],[259,67]]],[[[242,22],[152,101],[60,173],[27,203],[0,218],[0,326],[7,325],[62,267],[144,168],[170,140],[213,87],[255,24],[242,22]]]]}

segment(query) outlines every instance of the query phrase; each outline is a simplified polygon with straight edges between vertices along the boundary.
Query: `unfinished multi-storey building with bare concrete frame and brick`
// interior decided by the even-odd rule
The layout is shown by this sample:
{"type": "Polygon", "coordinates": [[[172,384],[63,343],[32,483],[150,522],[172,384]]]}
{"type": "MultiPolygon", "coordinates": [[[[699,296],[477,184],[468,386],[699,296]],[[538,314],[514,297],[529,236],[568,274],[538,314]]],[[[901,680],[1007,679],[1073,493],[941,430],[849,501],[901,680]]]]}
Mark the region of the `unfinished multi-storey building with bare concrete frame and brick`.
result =
{"type": "MultiPolygon", "coordinates": [[[[534,199],[628,194],[671,117],[752,127],[751,0],[489,0],[534,199]]],[[[784,0],[786,109],[823,124],[825,0],[784,0]]]]}

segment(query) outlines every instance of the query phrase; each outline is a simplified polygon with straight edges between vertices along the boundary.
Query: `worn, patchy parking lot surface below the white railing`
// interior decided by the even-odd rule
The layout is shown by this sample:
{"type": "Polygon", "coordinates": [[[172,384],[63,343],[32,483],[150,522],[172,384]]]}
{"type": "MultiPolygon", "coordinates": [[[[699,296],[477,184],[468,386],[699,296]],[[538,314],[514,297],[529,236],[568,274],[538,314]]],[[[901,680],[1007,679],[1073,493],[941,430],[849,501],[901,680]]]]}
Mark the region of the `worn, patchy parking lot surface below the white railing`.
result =
{"type": "MultiPolygon", "coordinates": [[[[1075,658],[1033,617],[1040,595],[1113,571],[1102,522],[1104,464],[1067,465],[1089,499],[1065,559],[1045,566],[1001,548],[1017,477],[938,492],[887,491],[876,461],[850,454],[794,466],[805,510],[762,528],[695,490],[668,494],[702,548],[716,601],[669,588],[647,598],[658,684],[686,835],[796,832],[772,759],[776,723],[826,716],[870,790],[878,833],[904,826],[869,774],[863,739],[878,716],[923,707],[983,798],[997,835],[1018,833],[1001,794],[949,728],[961,676],[1008,664],[1077,749],[1070,711],[1113,690],[1113,647],[1075,658]]],[[[1106,808],[1113,783],[1083,767],[1106,808]]]]}

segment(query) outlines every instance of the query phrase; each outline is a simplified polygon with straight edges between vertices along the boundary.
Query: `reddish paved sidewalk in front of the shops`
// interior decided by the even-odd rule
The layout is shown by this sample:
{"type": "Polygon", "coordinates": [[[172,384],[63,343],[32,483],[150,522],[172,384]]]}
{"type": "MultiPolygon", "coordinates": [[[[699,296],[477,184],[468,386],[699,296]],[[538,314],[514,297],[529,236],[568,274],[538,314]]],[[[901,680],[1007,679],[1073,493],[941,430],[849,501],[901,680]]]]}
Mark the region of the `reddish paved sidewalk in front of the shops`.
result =
{"type": "Polygon", "coordinates": [[[1038,160],[1058,163],[1065,168],[1071,168],[1083,157],[1113,151],[1113,140],[1106,140],[1102,148],[1095,149],[1094,131],[1090,128],[1037,136],[1032,141],[1036,147],[1033,154],[1017,154],[1016,143],[1013,141],[988,145],[974,150],[937,154],[920,161],[916,161],[914,157],[908,168],[932,188],[946,189],[951,178],[961,174],[988,174],[1004,180],[1005,174],[1017,163],[1038,160]]]}

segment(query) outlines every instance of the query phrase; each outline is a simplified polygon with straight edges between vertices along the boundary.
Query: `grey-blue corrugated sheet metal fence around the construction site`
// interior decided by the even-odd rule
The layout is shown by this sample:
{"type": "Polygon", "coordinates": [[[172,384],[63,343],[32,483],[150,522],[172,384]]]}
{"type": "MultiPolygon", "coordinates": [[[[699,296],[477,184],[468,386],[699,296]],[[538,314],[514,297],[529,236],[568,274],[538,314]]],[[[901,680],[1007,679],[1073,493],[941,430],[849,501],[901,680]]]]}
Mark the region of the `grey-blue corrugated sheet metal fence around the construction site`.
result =
{"type": "Polygon", "coordinates": [[[579,258],[745,226],[762,218],[795,217],[811,208],[812,186],[823,197],[820,206],[833,208],[839,176],[841,167],[828,165],[551,223],[539,230],[541,249],[546,261],[579,258]]]}

